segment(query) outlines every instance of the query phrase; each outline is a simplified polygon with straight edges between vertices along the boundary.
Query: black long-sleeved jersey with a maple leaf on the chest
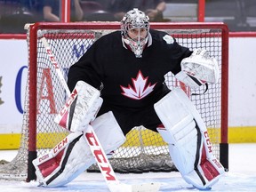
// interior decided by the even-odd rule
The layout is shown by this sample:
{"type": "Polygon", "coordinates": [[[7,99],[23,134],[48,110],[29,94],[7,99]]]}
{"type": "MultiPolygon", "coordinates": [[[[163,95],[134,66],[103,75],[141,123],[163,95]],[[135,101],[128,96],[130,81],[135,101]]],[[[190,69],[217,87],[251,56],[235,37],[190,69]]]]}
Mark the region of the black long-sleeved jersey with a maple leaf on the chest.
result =
{"type": "Polygon", "coordinates": [[[95,88],[103,84],[101,97],[110,106],[136,109],[156,103],[169,92],[164,86],[164,75],[180,72],[180,61],[191,52],[165,32],[149,32],[152,44],[144,49],[141,58],[124,48],[120,31],[100,37],[69,68],[69,89],[83,80],[95,88]]]}

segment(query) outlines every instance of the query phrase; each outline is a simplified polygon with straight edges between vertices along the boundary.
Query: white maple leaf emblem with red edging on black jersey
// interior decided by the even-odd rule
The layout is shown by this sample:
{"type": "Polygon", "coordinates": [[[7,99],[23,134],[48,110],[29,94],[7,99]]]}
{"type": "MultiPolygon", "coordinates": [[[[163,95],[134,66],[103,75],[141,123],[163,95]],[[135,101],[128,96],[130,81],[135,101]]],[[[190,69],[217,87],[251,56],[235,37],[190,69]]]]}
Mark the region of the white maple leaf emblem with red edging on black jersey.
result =
{"type": "Polygon", "coordinates": [[[132,78],[132,84],[133,86],[128,84],[127,87],[122,85],[120,85],[120,87],[123,90],[122,94],[125,97],[131,98],[133,100],[141,100],[142,98],[146,97],[150,92],[153,92],[156,85],[151,85],[151,83],[148,84],[148,76],[144,77],[141,71],[139,71],[135,79],[132,78]]]}

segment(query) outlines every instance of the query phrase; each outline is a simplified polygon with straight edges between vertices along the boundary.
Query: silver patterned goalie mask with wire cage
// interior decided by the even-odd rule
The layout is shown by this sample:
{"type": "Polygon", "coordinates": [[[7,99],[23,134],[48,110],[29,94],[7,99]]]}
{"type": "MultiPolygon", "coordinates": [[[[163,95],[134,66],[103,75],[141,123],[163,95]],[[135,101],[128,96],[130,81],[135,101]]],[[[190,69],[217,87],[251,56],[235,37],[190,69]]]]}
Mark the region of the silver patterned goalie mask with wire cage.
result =
{"type": "Polygon", "coordinates": [[[149,18],[138,9],[133,9],[121,20],[121,34],[137,58],[142,57],[145,45],[148,43],[149,18]]]}

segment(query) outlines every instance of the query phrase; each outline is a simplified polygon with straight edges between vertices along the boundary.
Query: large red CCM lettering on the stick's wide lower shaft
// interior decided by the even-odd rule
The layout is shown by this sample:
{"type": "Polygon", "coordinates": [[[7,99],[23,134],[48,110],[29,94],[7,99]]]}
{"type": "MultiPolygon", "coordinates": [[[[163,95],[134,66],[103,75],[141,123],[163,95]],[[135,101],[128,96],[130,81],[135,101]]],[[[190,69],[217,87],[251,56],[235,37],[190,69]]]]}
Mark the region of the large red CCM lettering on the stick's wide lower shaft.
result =
{"type": "Polygon", "coordinates": [[[104,174],[105,174],[104,176],[106,177],[106,179],[107,180],[116,180],[115,176],[111,175],[112,167],[109,166],[107,157],[105,156],[105,154],[103,154],[103,152],[100,148],[100,145],[99,145],[97,139],[95,138],[95,135],[93,134],[93,132],[86,132],[85,137],[88,140],[89,145],[95,147],[95,149],[92,149],[93,154],[94,154],[98,164],[100,164],[100,168],[104,172],[104,174]]]}

